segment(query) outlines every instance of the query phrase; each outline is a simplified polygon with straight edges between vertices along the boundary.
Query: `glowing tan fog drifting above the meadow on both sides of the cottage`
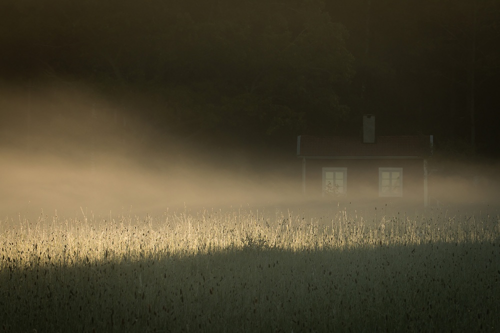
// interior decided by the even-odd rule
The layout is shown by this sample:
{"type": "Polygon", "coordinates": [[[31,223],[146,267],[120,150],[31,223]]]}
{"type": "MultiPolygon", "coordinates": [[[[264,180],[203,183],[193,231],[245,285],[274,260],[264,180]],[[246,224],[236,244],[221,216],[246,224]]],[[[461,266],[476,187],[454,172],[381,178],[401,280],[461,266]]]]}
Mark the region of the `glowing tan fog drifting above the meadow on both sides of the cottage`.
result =
{"type": "MultiPolygon", "coordinates": [[[[273,156],[175,128],[158,132],[138,105],[74,87],[3,88],[1,219],[36,218],[42,211],[70,218],[81,210],[102,218],[161,215],[184,206],[286,210],[314,202],[300,192],[295,142],[273,156]]],[[[497,206],[498,169],[491,161],[431,158],[431,204],[497,206]]]]}

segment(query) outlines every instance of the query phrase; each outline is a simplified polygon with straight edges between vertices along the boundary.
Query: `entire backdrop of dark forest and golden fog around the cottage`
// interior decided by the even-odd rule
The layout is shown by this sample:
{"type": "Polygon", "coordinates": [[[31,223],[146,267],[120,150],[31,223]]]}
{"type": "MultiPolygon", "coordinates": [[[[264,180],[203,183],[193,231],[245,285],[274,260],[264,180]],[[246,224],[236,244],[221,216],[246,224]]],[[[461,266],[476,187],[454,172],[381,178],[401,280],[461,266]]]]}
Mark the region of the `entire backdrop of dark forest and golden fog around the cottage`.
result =
{"type": "Polygon", "coordinates": [[[0,4],[0,217],[302,204],[296,136],[432,134],[498,204],[495,0],[0,4]],[[131,208],[130,208],[131,207],[131,208]]]}

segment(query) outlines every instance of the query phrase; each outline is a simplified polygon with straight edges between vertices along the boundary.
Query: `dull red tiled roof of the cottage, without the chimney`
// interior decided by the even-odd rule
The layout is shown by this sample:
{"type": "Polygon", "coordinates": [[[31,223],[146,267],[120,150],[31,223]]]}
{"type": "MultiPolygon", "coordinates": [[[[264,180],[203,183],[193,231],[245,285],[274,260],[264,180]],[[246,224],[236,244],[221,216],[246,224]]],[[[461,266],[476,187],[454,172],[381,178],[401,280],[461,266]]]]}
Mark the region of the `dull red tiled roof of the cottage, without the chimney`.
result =
{"type": "Polygon", "coordinates": [[[432,154],[432,135],[378,136],[375,143],[358,137],[297,137],[297,156],[310,158],[415,158],[432,154]]]}

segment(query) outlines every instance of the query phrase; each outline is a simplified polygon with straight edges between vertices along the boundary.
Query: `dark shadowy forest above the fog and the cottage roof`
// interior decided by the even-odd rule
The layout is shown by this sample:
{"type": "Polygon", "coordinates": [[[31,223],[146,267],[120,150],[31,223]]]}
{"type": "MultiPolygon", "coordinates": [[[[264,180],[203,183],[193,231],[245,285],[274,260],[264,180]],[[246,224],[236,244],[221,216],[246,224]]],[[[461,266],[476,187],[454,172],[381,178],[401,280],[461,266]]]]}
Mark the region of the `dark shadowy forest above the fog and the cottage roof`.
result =
{"type": "Polygon", "coordinates": [[[434,134],[491,155],[497,0],[6,0],[5,82],[150,100],[158,130],[293,146],[297,134],[434,134]]]}

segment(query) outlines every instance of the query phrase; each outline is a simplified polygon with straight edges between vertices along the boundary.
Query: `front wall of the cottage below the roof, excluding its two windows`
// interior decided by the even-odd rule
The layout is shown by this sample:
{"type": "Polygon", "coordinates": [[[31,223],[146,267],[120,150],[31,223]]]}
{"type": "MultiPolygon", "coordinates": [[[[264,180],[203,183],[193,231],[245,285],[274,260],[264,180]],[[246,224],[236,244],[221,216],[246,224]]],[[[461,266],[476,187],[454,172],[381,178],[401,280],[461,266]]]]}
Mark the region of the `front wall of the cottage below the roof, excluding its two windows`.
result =
{"type": "MultiPolygon", "coordinates": [[[[345,197],[335,201],[382,203],[417,203],[423,205],[423,158],[353,158],[353,159],[306,159],[305,195],[322,197],[322,168],[346,167],[347,191],[345,197]],[[379,197],[378,168],[402,168],[402,197],[379,197]]],[[[324,198],[331,200],[332,198],[324,198]]]]}

